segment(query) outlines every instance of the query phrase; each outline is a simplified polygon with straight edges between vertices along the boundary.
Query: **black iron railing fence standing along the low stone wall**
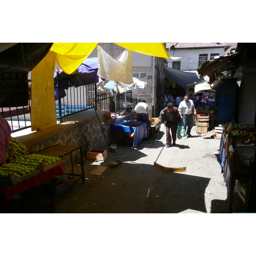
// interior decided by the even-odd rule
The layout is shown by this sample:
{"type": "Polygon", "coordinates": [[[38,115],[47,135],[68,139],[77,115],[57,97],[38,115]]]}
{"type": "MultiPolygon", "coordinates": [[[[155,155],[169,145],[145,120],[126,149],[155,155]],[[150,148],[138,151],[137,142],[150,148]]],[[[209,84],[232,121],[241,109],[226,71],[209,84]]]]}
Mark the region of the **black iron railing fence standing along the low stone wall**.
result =
{"type": "MultiPolygon", "coordinates": [[[[133,103],[132,91],[117,93],[97,89],[96,84],[75,87],[69,79],[54,79],[56,118],[95,108],[100,111],[116,112],[125,110],[123,103],[133,103]]],[[[5,118],[12,132],[31,128],[30,80],[0,80],[0,114],[5,118]]],[[[132,105],[133,106],[133,105],[132,105]]]]}

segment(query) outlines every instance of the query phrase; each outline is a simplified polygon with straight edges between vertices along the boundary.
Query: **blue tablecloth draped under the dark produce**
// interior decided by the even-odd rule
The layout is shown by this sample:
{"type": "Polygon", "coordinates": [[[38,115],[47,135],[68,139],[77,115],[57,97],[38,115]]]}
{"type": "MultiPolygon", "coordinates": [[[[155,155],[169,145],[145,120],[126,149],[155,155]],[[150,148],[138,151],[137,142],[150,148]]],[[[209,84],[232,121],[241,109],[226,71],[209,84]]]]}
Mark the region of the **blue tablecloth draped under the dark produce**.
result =
{"type": "Polygon", "coordinates": [[[131,127],[131,126],[123,125],[124,122],[127,122],[127,120],[118,121],[111,124],[110,126],[111,131],[134,132],[133,146],[134,148],[137,148],[138,144],[141,143],[141,141],[147,137],[147,124],[143,123],[138,127],[131,127]]]}

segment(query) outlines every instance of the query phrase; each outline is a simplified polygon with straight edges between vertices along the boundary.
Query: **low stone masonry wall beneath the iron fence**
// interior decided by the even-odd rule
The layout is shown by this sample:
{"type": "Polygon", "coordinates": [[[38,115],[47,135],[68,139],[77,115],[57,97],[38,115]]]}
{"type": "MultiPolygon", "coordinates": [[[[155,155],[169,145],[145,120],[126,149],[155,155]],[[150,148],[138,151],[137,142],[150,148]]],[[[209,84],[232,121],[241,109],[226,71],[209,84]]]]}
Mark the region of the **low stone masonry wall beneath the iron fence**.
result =
{"type": "MultiPolygon", "coordinates": [[[[102,119],[102,115],[105,111],[97,112],[101,124],[99,124],[99,120],[95,113],[83,111],[80,114],[75,114],[70,117],[73,120],[76,120],[73,124],[69,124],[71,122],[67,122],[69,117],[65,117],[64,119],[66,119],[67,123],[64,122],[54,125],[51,128],[46,128],[32,134],[15,138],[21,143],[32,147],[35,152],[56,144],[82,146],[85,157],[87,151],[90,149],[108,149],[110,143],[110,126],[104,125],[102,119]],[[44,136],[42,136],[42,133],[44,136]]],[[[73,160],[76,160],[76,157],[78,156],[80,156],[80,150],[74,151],[73,160]]],[[[64,168],[68,171],[71,169],[70,163],[70,155],[67,155],[67,159],[64,162],[64,168]]]]}

